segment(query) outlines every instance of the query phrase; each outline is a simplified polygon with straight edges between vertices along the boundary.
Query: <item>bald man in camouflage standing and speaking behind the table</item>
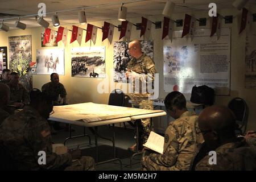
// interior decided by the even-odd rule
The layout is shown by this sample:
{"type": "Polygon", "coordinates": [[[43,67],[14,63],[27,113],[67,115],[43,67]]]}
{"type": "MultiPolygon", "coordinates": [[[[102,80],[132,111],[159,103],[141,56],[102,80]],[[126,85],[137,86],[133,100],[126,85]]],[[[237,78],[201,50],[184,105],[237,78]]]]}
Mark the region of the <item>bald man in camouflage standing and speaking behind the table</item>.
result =
{"type": "MultiPolygon", "coordinates": [[[[134,40],[129,43],[129,53],[132,59],[127,65],[125,76],[129,78],[133,84],[133,93],[130,93],[132,106],[140,109],[153,110],[153,100],[150,96],[147,86],[154,86],[155,63],[154,61],[142,52],[141,43],[134,40]],[[136,81],[138,80],[138,84],[136,81]]],[[[152,89],[152,88],[151,88],[152,89]]],[[[142,144],[147,141],[152,126],[150,126],[150,118],[141,119],[139,123],[139,150],[142,149],[142,144]]],[[[129,150],[136,151],[137,145],[129,147],[129,150]]]]}

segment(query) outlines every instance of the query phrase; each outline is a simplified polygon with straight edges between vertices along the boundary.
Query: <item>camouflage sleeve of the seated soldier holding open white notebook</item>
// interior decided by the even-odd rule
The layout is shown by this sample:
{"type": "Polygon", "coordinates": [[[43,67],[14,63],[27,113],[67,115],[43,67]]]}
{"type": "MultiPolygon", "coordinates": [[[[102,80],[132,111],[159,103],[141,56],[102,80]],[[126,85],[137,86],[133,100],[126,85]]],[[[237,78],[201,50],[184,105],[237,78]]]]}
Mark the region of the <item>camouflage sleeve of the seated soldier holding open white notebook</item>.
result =
{"type": "Polygon", "coordinates": [[[176,138],[176,130],[171,125],[167,127],[164,136],[164,152],[163,154],[151,154],[150,159],[160,166],[174,166],[177,160],[179,144],[176,138]]]}

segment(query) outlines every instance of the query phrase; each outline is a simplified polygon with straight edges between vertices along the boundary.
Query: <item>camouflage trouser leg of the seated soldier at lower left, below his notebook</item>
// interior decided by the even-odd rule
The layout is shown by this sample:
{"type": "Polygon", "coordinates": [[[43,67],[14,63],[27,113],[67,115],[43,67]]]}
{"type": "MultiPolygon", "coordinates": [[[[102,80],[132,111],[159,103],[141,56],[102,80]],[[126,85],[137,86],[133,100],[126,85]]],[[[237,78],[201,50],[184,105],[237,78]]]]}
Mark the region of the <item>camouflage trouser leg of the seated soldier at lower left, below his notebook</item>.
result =
{"type": "Polygon", "coordinates": [[[90,156],[82,156],[81,159],[72,162],[65,171],[95,171],[94,159],[90,156]]]}

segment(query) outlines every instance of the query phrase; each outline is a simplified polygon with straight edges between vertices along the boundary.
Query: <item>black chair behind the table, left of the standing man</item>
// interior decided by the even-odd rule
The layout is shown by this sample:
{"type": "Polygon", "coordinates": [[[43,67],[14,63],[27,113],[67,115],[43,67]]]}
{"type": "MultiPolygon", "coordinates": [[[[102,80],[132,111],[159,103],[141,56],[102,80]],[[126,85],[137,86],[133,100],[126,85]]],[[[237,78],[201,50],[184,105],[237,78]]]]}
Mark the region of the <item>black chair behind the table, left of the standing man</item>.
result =
{"type": "MultiPolygon", "coordinates": [[[[123,106],[124,102],[125,102],[125,93],[123,93],[123,91],[120,89],[112,90],[112,92],[109,95],[108,105],[123,106]]],[[[126,128],[125,122],[123,122],[123,125],[126,128]]]]}

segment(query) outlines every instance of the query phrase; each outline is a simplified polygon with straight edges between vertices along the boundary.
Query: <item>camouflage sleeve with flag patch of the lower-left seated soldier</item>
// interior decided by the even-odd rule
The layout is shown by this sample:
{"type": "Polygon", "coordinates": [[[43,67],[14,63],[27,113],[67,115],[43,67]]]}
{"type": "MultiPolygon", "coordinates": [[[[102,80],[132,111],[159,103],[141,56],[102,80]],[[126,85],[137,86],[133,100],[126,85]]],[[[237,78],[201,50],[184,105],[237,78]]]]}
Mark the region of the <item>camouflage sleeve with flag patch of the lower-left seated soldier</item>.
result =
{"type": "Polygon", "coordinates": [[[28,129],[28,141],[34,150],[36,162],[38,162],[39,151],[46,152],[46,164],[39,165],[42,169],[64,169],[72,164],[72,156],[70,154],[57,155],[52,152],[52,139],[49,131],[49,125],[46,121],[35,119],[30,121],[35,123],[28,129]]]}

